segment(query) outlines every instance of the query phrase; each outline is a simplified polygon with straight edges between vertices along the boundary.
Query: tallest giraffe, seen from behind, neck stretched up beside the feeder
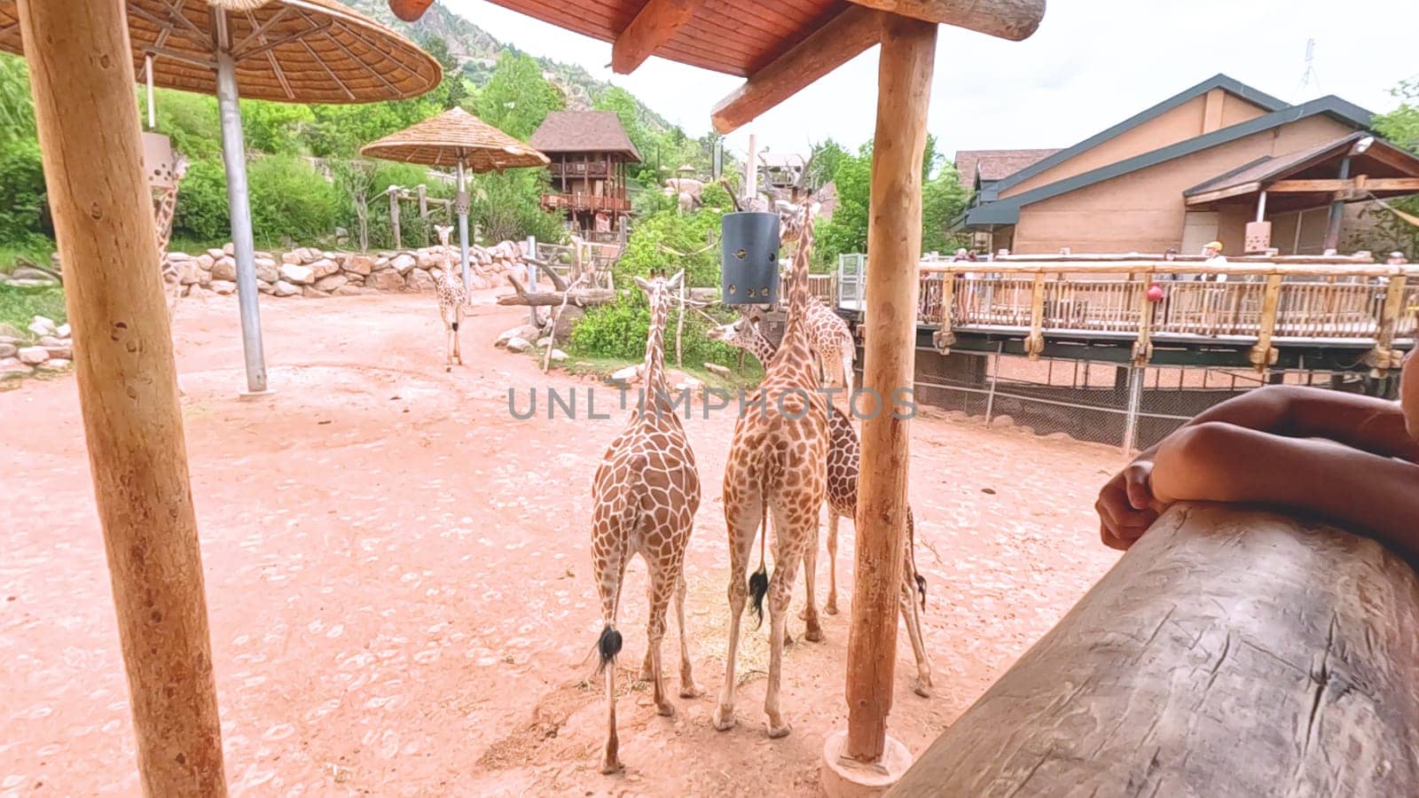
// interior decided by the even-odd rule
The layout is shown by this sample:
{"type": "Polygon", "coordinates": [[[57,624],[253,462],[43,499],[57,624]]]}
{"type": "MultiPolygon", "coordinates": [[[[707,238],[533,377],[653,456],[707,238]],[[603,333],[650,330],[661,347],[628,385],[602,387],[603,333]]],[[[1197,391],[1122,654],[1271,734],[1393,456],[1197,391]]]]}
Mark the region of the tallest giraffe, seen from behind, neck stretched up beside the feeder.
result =
{"type": "MultiPolygon", "coordinates": [[[[796,222],[799,237],[793,256],[788,329],[769,362],[768,375],[746,412],[735,422],[734,440],[724,470],[724,517],[729,531],[729,646],[725,659],[724,693],[714,713],[714,727],[734,727],[735,657],[745,601],[753,595],[762,622],[765,595],[769,599],[769,686],[763,697],[771,738],[792,730],[779,707],[783,669],[785,611],[799,561],[805,581],[813,585],[817,557],[817,513],[826,491],[827,402],[819,390],[817,372],[807,341],[807,264],[813,248],[812,214],[805,206],[796,222]],[[773,515],[773,575],[763,565],[768,515],[773,515]],[[749,582],[749,555],[762,527],[759,569],[749,582]]],[[[822,640],[823,632],[813,599],[807,605],[807,640],[822,640]]]]}

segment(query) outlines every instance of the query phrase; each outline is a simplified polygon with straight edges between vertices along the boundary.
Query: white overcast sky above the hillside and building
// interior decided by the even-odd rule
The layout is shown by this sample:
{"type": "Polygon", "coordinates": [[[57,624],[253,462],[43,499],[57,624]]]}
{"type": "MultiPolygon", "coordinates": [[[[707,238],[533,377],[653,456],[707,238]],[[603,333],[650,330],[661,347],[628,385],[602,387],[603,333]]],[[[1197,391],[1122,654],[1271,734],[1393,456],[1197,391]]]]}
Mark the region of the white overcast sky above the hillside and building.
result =
{"type": "MultiPolygon", "coordinates": [[[[563,31],[485,0],[441,0],[502,41],[634,92],[691,135],[741,78],[661,58],[613,75],[610,44],[563,31]]],[[[1389,89],[1419,78],[1419,0],[1049,0],[1023,43],[942,27],[929,131],[958,149],[1069,146],[1216,72],[1300,102],[1334,94],[1375,112],[1389,89]],[[1305,41],[1315,40],[1310,85],[1305,41]]],[[[729,136],[746,149],[807,152],[834,138],[873,135],[877,48],[863,53],[729,136]]]]}

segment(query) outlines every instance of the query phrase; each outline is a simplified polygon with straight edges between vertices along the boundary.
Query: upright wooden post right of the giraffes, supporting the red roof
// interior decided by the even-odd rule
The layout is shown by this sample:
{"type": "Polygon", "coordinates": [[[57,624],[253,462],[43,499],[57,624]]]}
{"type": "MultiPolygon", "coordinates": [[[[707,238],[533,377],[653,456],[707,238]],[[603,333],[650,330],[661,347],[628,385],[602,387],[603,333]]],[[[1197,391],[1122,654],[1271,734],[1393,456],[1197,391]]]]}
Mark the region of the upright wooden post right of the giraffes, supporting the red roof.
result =
{"type": "MultiPolygon", "coordinates": [[[[841,757],[880,767],[890,765],[884,753],[897,665],[897,602],[907,540],[910,457],[910,422],[895,417],[891,410],[895,392],[911,389],[915,369],[921,155],[927,143],[937,26],[887,17],[881,38],[867,229],[867,295],[871,300],[866,308],[863,355],[863,386],[881,398],[881,412],[863,420],[857,574],[847,642],[847,736],[840,745],[841,757]]],[[[893,747],[905,754],[900,743],[893,747]]],[[[841,767],[841,757],[824,764],[841,767]]]]}

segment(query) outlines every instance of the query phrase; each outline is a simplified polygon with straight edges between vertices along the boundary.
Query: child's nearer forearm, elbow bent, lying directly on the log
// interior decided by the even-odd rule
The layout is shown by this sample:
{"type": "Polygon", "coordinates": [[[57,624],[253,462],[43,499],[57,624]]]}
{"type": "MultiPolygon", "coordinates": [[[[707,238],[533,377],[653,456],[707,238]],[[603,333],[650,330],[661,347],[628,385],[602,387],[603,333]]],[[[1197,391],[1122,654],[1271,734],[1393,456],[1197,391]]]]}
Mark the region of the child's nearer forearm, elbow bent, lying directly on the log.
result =
{"type": "Polygon", "coordinates": [[[1203,423],[1162,442],[1151,479],[1162,504],[1298,510],[1374,537],[1410,561],[1419,554],[1419,466],[1384,453],[1203,423]]]}

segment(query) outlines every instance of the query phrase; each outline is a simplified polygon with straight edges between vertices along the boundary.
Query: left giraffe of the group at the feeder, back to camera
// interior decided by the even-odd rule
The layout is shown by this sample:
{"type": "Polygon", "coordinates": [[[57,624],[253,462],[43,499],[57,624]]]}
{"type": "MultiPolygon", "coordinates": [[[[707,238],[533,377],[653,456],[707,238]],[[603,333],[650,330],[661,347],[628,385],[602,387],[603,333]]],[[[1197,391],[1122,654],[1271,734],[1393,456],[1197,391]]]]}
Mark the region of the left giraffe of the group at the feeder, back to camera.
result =
{"type": "Polygon", "coordinates": [[[660,643],[666,633],[666,609],[675,599],[680,622],[680,697],[701,694],[690,667],[690,647],[685,643],[685,575],[684,557],[700,510],[700,473],[685,439],[685,430],[675,416],[666,386],[664,335],[666,318],[674,293],[684,273],[670,280],[663,275],[636,284],[650,298],[650,331],[646,335],[643,364],[644,389],[640,402],[626,422],[626,429],[612,440],[592,483],[592,564],[602,599],[604,623],[597,640],[599,670],[606,677],[606,748],[602,772],[622,770],[616,738],[616,655],[622,635],[616,630],[616,611],[620,605],[622,579],[626,564],[636,554],[646,561],[650,578],[650,645],[641,679],[653,684],[656,709],[670,717],[675,707],[666,699],[661,677],[660,643]]]}

